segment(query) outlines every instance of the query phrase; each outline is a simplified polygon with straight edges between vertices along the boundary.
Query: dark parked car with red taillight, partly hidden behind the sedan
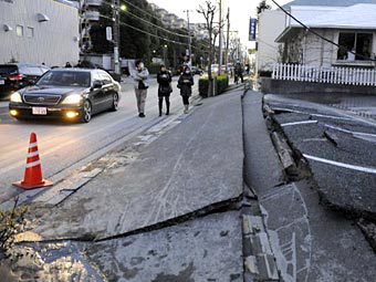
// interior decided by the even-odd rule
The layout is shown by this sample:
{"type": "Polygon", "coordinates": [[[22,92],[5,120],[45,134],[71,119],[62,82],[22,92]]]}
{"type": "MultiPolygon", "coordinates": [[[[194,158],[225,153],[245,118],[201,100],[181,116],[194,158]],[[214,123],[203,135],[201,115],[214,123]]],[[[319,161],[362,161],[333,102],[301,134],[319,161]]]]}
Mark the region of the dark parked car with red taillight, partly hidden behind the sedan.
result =
{"type": "Polygon", "coordinates": [[[29,84],[35,83],[50,69],[39,64],[0,64],[0,98],[29,84]]]}

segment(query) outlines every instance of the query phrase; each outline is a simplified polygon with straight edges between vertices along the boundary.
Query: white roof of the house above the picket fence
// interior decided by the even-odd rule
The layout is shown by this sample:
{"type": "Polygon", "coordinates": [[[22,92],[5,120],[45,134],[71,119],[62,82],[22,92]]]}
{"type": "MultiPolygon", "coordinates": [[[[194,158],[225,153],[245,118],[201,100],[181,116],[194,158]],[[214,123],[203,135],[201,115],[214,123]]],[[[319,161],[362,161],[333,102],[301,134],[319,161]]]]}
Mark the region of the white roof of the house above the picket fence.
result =
{"type": "MultiPolygon", "coordinates": [[[[291,7],[292,14],[309,28],[376,31],[376,4],[338,7],[326,11],[322,10],[320,12],[315,10],[315,7],[312,7],[311,12],[309,7],[305,7],[304,9],[300,8],[301,7],[291,7]]],[[[292,20],[290,25],[275,41],[283,42],[288,36],[296,32],[297,29],[303,29],[303,27],[292,20]]]]}

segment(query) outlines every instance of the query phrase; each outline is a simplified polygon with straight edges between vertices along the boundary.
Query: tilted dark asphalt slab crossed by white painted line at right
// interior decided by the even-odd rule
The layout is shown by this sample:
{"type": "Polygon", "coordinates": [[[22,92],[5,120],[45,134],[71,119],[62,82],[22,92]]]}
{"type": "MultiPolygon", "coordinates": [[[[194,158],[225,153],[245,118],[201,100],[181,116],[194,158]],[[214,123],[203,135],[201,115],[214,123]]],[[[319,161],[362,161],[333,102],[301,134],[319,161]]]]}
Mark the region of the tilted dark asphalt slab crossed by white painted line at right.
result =
{"type": "MultiPolygon", "coordinates": [[[[275,117],[279,123],[285,119],[290,114],[275,117]]],[[[354,124],[359,127],[357,122],[354,124]]],[[[349,128],[351,122],[346,125],[349,128]]],[[[376,220],[376,167],[372,161],[376,159],[375,144],[348,129],[335,129],[340,126],[323,119],[315,125],[284,127],[283,132],[295,153],[306,156],[323,203],[346,216],[376,220]]]]}

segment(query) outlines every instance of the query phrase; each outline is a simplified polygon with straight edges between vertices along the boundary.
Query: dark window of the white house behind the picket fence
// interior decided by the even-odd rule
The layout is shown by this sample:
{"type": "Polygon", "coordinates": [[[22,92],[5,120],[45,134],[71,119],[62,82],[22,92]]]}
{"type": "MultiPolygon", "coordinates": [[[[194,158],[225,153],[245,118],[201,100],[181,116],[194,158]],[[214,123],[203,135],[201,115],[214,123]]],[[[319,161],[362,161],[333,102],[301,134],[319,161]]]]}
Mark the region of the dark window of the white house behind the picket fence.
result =
{"type": "Polygon", "coordinates": [[[347,61],[367,61],[370,60],[372,52],[372,33],[340,32],[337,59],[347,61]],[[353,51],[355,54],[351,53],[353,51]]]}

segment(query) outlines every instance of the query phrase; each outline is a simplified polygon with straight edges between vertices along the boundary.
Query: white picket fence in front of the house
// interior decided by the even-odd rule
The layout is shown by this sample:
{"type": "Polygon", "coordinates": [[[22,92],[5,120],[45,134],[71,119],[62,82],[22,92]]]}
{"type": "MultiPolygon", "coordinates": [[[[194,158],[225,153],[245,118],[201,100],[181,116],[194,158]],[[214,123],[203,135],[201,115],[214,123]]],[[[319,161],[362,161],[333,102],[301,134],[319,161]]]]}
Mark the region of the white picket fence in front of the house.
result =
{"type": "Polygon", "coordinates": [[[273,80],[376,86],[374,69],[275,64],[273,80]]]}

